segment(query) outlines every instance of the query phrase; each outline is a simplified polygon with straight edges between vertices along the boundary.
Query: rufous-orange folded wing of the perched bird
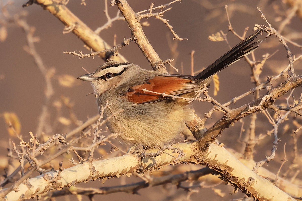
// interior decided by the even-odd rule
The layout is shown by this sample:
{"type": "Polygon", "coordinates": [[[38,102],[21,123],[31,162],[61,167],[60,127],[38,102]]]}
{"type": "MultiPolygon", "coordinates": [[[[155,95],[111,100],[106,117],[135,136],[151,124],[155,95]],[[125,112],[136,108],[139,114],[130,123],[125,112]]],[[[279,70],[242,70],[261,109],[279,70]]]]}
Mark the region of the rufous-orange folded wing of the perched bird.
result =
{"type": "Polygon", "coordinates": [[[190,77],[169,74],[158,75],[146,81],[144,84],[132,87],[129,92],[127,92],[127,97],[130,101],[138,104],[149,103],[169,98],[168,96],[162,96],[162,93],[178,96],[199,90],[199,88],[200,86],[190,77]],[[152,92],[145,92],[143,89],[160,93],[160,95],[152,92]]]}

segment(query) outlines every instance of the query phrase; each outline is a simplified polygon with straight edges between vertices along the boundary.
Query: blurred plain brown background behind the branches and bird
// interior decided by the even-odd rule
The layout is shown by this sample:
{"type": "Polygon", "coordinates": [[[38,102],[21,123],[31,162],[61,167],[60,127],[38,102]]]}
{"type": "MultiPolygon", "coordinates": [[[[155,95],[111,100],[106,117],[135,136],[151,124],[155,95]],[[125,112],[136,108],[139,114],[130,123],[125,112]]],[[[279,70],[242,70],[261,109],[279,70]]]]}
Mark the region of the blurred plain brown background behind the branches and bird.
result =
{"type": "MultiPolygon", "coordinates": [[[[158,6],[169,1],[159,0],[145,0],[145,1],[128,1],[134,11],[146,10],[149,8],[151,2],[154,6],[158,6]]],[[[4,3],[4,2],[2,2],[4,3]]],[[[21,5],[26,3],[25,1],[15,1],[12,6],[9,7],[11,14],[18,12],[28,12],[26,17],[30,26],[36,28],[34,36],[40,38],[40,42],[35,43],[36,49],[43,59],[43,63],[47,68],[54,68],[55,74],[52,78],[52,84],[54,87],[54,96],[52,96],[49,104],[50,114],[47,118],[50,125],[54,125],[52,130],[48,130],[48,135],[55,133],[68,133],[72,128],[76,127],[74,124],[64,125],[60,122],[55,123],[57,119],[57,110],[53,105],[55,101],[61,101],[62,97],[67,97],[74,104],[71,110],[76,114],[76,118],[80,121],[85,121],[87,117],[92,117],[97,114],[97,106],[95,104],[95,97],[93,95],[86,96],[88,93],[92,93],[92,88],[88,83],[76,80],[72,87],[64,87],[59,84],[58,79],[60,76],[68,74],[76,77],[85,74],[82,69],[84,67],[87,71],[93,72],[98,65],[102,64],[100,58],[83,58],[79,60],[72,55],[63,54],[63,51],[82,51],[84,54],[90,51],[83,47],[82,41],[80,41],[72,33],[63,34],[64,25],[56,19],[48,11],[44,11],[38,5],[32,5],[27,8],[21,8],[21,5]]],[[[102,26],[107,22],[104,15],[104,1],[86,1],[86,6],[80,5],[80,1],[72,0],[68,3],[67,7],[77,15],[88,27],[92,30],[102,26]]],[[[181,66],[183,65],[184,74],[190,74],[191,58],[190,52],[194,53],[194,70],[197,71],[207,65],[211,64],[221,55],[229,50],[225,41],[212,42],[207,39],[208,36],[220,32],[224,33],[228,31],[228,22],[226,17],[225,5],[228,5],[228,11],[233,28],[239,35],[242,35],[244,29],[249,27],[247,36],[252,33],[254,24],[265,24],[261,15],[258,13],[256,7],[260,7],[266,14],[268,21],[273,27],[278,29],[280,23],[288,14],[288,6],[281,1],[182,1],[176,2],[171,5],[172,10],[165,13],[164,18],[169,20],[169,24],[173,26],[174,31],[181,38],[188,38],[183,41],[172,41],[172,34],[169,29],[159,20],[154,18],[144,19],[143,21],[149,22],[149,27],[144,27],[146,36],[148,37],[153,48],[159,54],[162,60],[175,59],[173,65],[179,69],[178,73],[182,73],[181,66]],[[169,49],[169,43],[177,44],[178,56],[171,55],[169,49]]],[[[108,8],[111,17],[114,17],[117,13],[115,6],[108,8]]],[[[17,114],[21,123],[21,134],[25,140],[29,140],[29,131],[35,134],[37,130],[37,122],[39,115],[42,111],[42,107],[45,104],[44,88],[45,81],[41,76],[39,69],[34,63],[33,58],[24,51],[23,47],[26,43],[26,36],[20,27],[11,25],[7,27],[8,36],[5,41],[0,43],[0,114],[5,111],[13,111],[17,114]]],[[[292,40],[301,44],[302,39],[292,34],[302,32],[301,20],[298,17],[294,17],[290,24],[288,24],[282,34],[292,37],[292,40]]],[[[113,36],[117,34],[116,43],[120,42],[124,38],[130,37],[130,30],[125,21],[119,20],[113,23],[113,26],[103,30],[100,36],[107,41],[111,46],[113,45],[113,36]]],[[[264,36],[260,36],[261,39],[265,39],[264,36]]],[[[239,39],[232,33],[227,34],[227,39],[230,46],[235,46],[239,39]]],[[[290,46],[291,51],[299,55],[301,50],[297,47],[290,46]]],[[[260,48],[255,52],[256,59],[261,60],[262,55],[266,52],[272,54],[278,50],[264,65],[264,70],[261,75],[260,81],[264,82],[267,76],[275,76],[279,74],[287,65],[288,59],[284,47],[278,43],[278,39],[274,36],[265,39],[261,43],[260,48]]],[[[133,42],[129,46],[125,46],[119,51],[129,62],[141,65],[144,68],[151,69],[148,61],[144,58],[137,45],[133,42]]],[[[168,65],[166,65],[169,72],[177,74],[168,65]]],[[[295,73],[301,74],[301,62],[295,64],[295,73]]],[[[231,97],[239,96],[249,89],[254,87],[254,84],[250,79],[250,68],[247,63],[242,59],[236,62],[231,67],[223,70],[219,73],[220,78],[220,91],[215,98],[220,103],[224,103],[231,99],[231,97]]],[[[212,96],[214,87],[209,89],[209,93],[212,96]]],[[[263,94],[265,91],[262,91],[263,94]]],[[[300,96],[301,88],[295,90],[294,94],[297,98],[300,96]]],[[[252,96],[248,96],[230,107],[238,107],[253,99],[252,96]]],[[[208,111],[212,106],[210,103],[194,102],[194,108],[199,116],[203,116],[203,113],[208,111]]],[[[223,114],[216,112],[212,119],[207,121],[207,127],[210,127],[215,123],[223,114]]],[[[69,109],[62,106],[60,116],[69,118],[69,109]]],[[[258,115],[256,133],[266,133],[266,130],[271,129],[267,127],[268,124],[263,122],[267,121],[262,115],[258,115]]],[[[249,118],[245,118],[245,128],[248,129],[249,118]]],[[[301,122],[301,120],[299,120],[301,122]]],[[[225,130],[219,140],[226,144],[227,147],[233,147],[237,151],[242,151],[243,143],[238,141],[240,128],[242,124],[237,122],[233,127],[225,130]]],[[[290,127],[292,125],[289,125],[290,127]]],[[[1,156],[5,157],[6,147],[8,146],[8,138],[12,138],[17,144],[18,140],[9,136],[7,132],[7,125],[3,119],[0,119],[0,131],[2,135],[1,143],[1,156]]],[[[47,132],[47,131],[46,131],[47,132]]],[[[244,136],[244,133],[243,133],[244,136]]],[[[288,149],[291,149],[291,141],[289,134],[283,132],[280,129],[280,146],[278,148],[278,154],[280,157],[270,162],[269,166],[271,170],[276,172],[281,163],[283,157],[283,145],[288,143],[288,149]]],[[[118,143],[118,142],[116,142],[118,143]]],[[[270,154],[272,138],[261,141],[266,144],[265,149],[256,150],[262,152],[257,154],[255,160],[261,160],[265,155],[270,154]]],[[[109,149],[110,150],[110,149],[109,149]]],[[[67,164],[66,164],[67,165],[67,164]]],[[[71,165],[71,164],[68,164],[71,165]]],[[[67,166],[68,166],[67,165],[67,166]]],[[[286,168],[285,168],[286,169],[286,168]]],[[[123,179],[122,179],[123,180],[123,179]]],[[[124,179],[126,183],[133,181],[133,178],[124,179]]],[[[117,180],[110,179],[105,184],[118,185],[117,180]]],[[[88,184],[78,184],[82,186],[89,186],[88,184]]],[[[101,186],[100,182],[93,183],[94,187],[101,186]]],[[[185,193],[183,190],[165,191],[165,187],[156,187],[156,190],[143,189],[140,190],[140,196],[117,193],[107,196],[97,196],[99,199],[113,199],[113,200],[183,200],[185,199],[185,193]],[[174,192],[174,193],[173,193],[174,192]],[[177,195],[177,196],[176,196],[177,195]]],[[[225,192],[228,193],[233,190],[233,187],[222,186],[226,188],[225,192]]],[[[228,195],[223,199],[218,196],[207,197],[208,192],[212,194],[212,190],[209,188],[200,189],[199,193],[195,193],[191,196],[191,200],[230,200],[243,197],[242,193],[236,195],[228,195]]],[[[73,199],[61,198],[62,200],[73,199]]],[[[84,200],[87,199],[84,197],[84,200]]],[[[97,200],[97,199],[96,199],[97,200]]]]}

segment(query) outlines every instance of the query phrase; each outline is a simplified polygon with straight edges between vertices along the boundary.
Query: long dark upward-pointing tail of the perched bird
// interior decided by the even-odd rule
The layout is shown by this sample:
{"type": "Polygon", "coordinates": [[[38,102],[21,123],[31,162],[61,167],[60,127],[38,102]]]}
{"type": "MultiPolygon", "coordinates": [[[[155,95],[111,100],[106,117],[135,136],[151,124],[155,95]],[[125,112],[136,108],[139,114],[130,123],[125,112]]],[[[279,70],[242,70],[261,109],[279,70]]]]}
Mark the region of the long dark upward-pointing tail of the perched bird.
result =
{"type": "Polygon", "coordinates": [[[194,78],[202,82],[205,79],[220,72],[224,68],[228,67],[229,65],[233,64],[234,62],[238,61],[239,59],[243,58],[245,55],[248,55],[249,53],[253,52],[255,49],[259,47],[259,43],[262,42],[261,40],[257,40],[256,42],[253,42],[253,40],[256,39],[259,36],[259,34],[261,34],[260,30],[253,33],[251,36],[249,36],[248,38],[240,42],[238,45],[230,49],[229,52],[226,52],[222,57],[217,59],[213,64],[209,65],[206,69],[201,71],[194,78]]]}

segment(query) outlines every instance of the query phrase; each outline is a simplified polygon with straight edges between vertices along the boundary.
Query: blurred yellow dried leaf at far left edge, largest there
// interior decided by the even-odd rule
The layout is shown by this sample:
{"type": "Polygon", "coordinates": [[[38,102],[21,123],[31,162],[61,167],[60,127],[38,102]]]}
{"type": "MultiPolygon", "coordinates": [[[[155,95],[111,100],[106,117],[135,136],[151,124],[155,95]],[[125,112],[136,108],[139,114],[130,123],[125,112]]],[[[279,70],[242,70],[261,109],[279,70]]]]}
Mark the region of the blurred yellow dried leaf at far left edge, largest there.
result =
{"type": "Polygon", "coordinates": [[[3,112],[5,124],[7,125],[7,131],[10,136],[15,136],[15,132],[19,135],[21,133],[21,123],[14,112],[3,112]]]}

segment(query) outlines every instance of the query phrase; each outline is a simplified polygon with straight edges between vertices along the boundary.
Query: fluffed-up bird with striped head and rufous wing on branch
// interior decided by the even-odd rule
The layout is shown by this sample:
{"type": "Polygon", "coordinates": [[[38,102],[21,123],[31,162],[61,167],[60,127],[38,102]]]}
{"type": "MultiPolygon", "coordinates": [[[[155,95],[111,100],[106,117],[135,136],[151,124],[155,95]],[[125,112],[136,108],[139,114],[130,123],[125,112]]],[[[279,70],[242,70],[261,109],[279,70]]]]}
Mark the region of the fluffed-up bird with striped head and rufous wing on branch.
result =
{"type": "Polygon", "coordinates": [[[121,133],[119,138],[123,142],[144,148],[162,147],[180,133],[189,132],[187,125],[192,112],[188,100],[183,98],[196,96],[195,92],[208,85],[214,74],[257,49],[262,41],[254,40],[261,33],[256,31],[196,76],[107,61],[95,72],[77,79],[91,82],[99,111],[107,102],[111,103],[110,110],[104,111],[104,118],[116,113],[106,124],[112,133],[121,133]]]}

